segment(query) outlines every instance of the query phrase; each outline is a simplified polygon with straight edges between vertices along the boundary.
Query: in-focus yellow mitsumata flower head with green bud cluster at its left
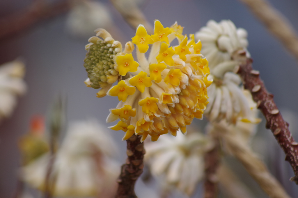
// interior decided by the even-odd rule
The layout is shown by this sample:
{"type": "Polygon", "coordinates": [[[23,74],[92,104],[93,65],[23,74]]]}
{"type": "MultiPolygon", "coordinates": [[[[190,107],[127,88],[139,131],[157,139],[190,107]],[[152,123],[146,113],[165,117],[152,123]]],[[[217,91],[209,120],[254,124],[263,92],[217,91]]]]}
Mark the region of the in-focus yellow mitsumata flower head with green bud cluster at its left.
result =
{"type": "Polygon", "coordinates": [[[159,20],[155,20],[154,34],[148,35],[140,24],[132,42],[126,43],[123,52],[121,44],[111,39],[105,30],[97,30],[97,36],[105,41],[97,37],[89,39],[92,44],[87,45],[89,51],[85,67],[90,80],[86,84],[94,88],[102,87],[98,94],[101,97],[118,97],[120,102],[115,109],[110,109],[107,122],[120,119],[110,128],[125,131],[123,140],[133,134],[142,135],[141,141],[148,135],[156,141],[161,134],[168,132],[176,136],[179,129],[186,132],[186,125],[193,118],[202,119],[208,104],[207,87],[212,83],[207,79],[208,61],[199,53],[200,42],[195,43],[193,36],[188,40],[186,35],[182,35],[182,30],[177,22],[170,28],[164,28],[159,20]],[[175,38],[179,45],[169,46],[175,38]],[[133,43],[137,46],[136,59],[132,55],[133,43]],[[152,46],[146,57],[149,44],[152,46]],[[107,46],[110,48],[100,51],[107,46]],[[109,67],[102,63],[108,63],[109,67]],[[97,65],[111,68],[116,74],[110,77],[97,65]],[[101,79],[105,80],[105,77],[107,81],[103,82],[101,79]],[[108,82],[108,77],[113,80],[108,82]],[[111,87],[117,79],[118,84],[111,87]]]}

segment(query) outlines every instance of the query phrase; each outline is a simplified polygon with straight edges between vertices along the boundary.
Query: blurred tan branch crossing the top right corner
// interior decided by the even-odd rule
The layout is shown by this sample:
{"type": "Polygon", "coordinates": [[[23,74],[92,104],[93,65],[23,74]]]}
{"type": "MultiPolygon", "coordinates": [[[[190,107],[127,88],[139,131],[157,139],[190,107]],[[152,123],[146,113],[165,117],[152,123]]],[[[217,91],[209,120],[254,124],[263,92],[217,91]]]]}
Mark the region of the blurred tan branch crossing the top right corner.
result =
{"type": "Polygon", "coordinates": [[[298,59],[298,36],[291,23],[266,0],[240,0],[298,59]]]}

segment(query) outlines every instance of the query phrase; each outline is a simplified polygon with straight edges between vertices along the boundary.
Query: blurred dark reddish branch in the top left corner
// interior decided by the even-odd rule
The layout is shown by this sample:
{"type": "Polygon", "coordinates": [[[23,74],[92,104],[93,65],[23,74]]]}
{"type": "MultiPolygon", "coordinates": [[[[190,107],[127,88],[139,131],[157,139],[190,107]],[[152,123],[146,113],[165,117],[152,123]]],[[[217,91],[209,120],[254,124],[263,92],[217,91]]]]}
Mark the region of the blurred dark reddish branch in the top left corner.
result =
{"type": "Polygon", "coordinates": [[[70,8],[70,0],[61,0],[52,4],[34,1],[30,7],[0,18],[0,40],[22,34],[24,30],[36,23],[63,14],[70,8]]]}

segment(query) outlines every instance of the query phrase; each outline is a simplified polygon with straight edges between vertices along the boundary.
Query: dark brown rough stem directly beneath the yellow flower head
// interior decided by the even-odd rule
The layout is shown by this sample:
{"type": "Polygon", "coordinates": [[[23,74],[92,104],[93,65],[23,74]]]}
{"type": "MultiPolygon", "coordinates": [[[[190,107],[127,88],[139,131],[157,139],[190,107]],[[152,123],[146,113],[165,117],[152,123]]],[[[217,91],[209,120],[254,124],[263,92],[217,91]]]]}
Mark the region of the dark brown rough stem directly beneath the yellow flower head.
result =
{"type": "Polygon", "coordinates": [[[117,180],[119,183],[116,198],[137,198],[134,192],[136,180],[143,172],[143,158],[145,154],[144,143],[141,143],[140,135],[131,136],[127,142],[126,163],[121,167],[121,173],[117,180]]]}

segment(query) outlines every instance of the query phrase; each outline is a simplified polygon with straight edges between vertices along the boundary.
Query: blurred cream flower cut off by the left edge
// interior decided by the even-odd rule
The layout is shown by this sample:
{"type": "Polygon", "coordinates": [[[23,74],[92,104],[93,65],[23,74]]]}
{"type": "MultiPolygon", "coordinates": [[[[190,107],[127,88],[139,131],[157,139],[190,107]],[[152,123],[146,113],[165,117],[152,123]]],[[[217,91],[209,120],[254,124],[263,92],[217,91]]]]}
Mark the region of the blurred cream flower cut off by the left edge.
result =
{"type": "Polygon", "coordinates": [[[26,92],[24,73],[25,65],[21,61],[0,65],[0,121],[13,113],[16,96],[26,92]]]}

